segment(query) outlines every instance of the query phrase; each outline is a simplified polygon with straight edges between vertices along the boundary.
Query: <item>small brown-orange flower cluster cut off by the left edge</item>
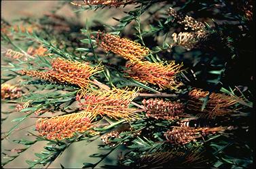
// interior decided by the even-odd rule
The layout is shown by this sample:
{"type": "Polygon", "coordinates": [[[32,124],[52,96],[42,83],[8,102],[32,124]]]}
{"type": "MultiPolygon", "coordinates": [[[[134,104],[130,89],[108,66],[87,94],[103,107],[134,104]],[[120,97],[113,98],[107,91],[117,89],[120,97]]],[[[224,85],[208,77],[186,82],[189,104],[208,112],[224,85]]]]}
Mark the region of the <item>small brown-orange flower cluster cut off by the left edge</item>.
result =
{"type": "Polygon", "coordinates": [[[1,84],[1,98],[13,99],[20,98],[22,96],[22,90],[18,86],[11,86],[10,84],[1,84]]]}

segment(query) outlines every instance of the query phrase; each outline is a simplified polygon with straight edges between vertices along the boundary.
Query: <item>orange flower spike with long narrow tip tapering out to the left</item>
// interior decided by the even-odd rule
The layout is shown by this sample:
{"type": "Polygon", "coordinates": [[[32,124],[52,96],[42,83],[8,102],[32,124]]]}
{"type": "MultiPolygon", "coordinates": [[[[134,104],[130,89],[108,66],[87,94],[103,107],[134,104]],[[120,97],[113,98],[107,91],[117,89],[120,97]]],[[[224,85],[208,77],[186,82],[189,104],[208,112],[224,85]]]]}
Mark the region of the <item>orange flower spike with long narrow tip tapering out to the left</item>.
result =
{"type": "Polygon", "coordinates": [[[71,83],[79,86],[80,88],[87,88],[89,85],[89,77],[102,71],[102,67],[90,67],[87,64],[81,62],[73,62],[70,60],[64,60],[56,58],[52,62],[52,69],[50,71],[20,71],[22,75],[29,75],[44,79],[46,81],[56,83],[71,83]]]}

